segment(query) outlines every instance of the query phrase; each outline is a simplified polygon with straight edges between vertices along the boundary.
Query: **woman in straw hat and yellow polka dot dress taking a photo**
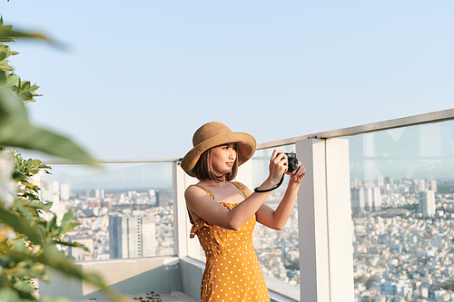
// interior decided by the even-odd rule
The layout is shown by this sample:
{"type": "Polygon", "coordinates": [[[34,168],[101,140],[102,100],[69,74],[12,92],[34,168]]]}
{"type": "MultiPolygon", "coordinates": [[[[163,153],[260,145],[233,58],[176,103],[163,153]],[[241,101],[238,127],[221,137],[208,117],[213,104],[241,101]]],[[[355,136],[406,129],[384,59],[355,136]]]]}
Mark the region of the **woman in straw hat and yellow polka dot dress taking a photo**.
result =
{"type": "Polygon", "coordinates": [[[256,221],[283,229],[306,170],[299,162],[297,170],[287,172],[287,156],[273,151],[269,177],[252,192],[232,181],[238,166],[255,151],[256,142],[250,134],[209,122],[194,133],[192,143],[182,168],[200,180],[187,188],[184,197],[192,223],[191,238],[198,236],[206,256],[201,300],[270,301],[252,231],[256,221]],[[287,190],[278,208],[271,209],[263,201],[284,173],[290,175],[287,190]]]}

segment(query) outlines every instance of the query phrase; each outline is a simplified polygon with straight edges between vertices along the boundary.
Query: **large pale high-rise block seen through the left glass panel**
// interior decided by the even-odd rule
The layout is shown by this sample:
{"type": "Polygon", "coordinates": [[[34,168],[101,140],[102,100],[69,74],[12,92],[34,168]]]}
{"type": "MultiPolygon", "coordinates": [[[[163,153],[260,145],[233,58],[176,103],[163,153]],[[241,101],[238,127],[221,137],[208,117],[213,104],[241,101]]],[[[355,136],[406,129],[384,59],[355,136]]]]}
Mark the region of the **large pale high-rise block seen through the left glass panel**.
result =
{"type": "Polygon", "coordinates": [[[109,215],[109,247],[112,258],[156,256],[154,216],[143,211],[109,215]]]}

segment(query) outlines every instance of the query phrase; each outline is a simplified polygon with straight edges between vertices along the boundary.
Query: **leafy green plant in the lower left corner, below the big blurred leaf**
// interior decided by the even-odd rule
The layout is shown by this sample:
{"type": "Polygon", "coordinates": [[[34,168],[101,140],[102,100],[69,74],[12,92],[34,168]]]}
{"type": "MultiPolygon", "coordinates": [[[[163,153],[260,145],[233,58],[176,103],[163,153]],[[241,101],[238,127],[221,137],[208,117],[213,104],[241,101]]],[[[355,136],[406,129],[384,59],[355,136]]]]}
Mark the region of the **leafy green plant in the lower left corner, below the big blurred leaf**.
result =
{"type": "MultiPolygon", "coordinates": [[[[57,248],[58,245],[84,248],[62,240],[64,233],[79,225],[73,221],[73,209],[67,210],[60,224],[55,214],[49,221],[40,216],[43,211],[51,212],[50,205],[39,200],[39,188],[31,178],[40,170],[48,172],[50,167],[39,160],[25,161],[16,152],[12,157],[15,160],[12,176],[18,183],[18,191],[9,208],[0,207],[0,301],[3,301],[2,297],[5,301],[35,300],[30,278],[49,280],[48,268],[91,282],[115,297],[101,278],[84,274],[57,248]]],[[[119,297],[116,299],[120,300],[119,297]]]]}

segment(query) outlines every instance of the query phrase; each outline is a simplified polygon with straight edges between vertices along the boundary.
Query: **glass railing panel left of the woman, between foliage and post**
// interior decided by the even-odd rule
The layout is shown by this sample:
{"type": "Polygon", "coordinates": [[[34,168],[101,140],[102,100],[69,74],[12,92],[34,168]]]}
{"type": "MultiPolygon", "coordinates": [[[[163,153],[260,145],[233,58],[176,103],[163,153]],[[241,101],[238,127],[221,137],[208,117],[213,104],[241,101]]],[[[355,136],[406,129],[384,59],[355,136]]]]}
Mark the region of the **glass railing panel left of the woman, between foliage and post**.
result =
{"type": "Polygon", "coordinates": [[[101,163],[102,170],[50,165],[52,174],[35,178],[41,197],[54,202],[58,219],[74,210],[80,226],[64,239],[89,249],[66,248],[69,256],[86,261],[175,254],[172,162],[101,163]]]}

